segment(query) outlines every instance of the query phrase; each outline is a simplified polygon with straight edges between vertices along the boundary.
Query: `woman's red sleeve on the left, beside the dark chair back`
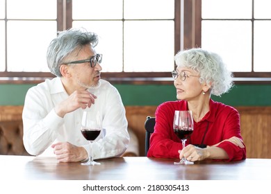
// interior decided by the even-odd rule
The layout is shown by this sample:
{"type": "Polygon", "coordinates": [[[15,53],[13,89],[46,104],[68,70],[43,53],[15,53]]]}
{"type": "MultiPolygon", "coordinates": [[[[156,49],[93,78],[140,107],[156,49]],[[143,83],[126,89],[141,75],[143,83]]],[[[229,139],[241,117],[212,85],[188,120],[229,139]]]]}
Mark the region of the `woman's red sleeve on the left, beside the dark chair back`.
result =
{"type": "Polygon", "coordinates": [[[174,103],[163,103],[156,109],[156,125],[151,134],[147,157],[179,158],[181,140],[174,134],[174,103]]]}

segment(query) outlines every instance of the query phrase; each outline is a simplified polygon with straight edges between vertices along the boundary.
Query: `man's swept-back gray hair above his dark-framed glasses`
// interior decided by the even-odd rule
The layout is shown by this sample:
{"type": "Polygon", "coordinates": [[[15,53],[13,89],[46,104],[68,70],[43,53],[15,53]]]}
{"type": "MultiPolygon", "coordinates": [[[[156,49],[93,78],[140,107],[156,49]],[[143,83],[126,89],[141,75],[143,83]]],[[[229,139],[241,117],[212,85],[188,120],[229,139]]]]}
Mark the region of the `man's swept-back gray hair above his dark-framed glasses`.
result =
{"type": "Polygon", "coordinates": [[[85,28],[71,28],[58,32],[58,37],[51,41],[47,49],[47,64],[51,73],[61,77],[60,65],[63,64],[63,59],[88,44],[92,48],[97,46],[98,36],[85,28]]]}

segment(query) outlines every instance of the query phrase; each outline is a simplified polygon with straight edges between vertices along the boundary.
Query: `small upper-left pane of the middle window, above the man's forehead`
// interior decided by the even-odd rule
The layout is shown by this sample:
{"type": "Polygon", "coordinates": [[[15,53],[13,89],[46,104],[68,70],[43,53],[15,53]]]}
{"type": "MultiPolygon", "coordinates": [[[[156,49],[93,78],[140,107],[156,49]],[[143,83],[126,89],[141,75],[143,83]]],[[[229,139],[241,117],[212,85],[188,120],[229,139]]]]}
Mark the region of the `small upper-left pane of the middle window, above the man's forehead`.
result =
{"type": "Polygon", "coordinates": [[[122,19],[122,0],[72,1],[73,19],[122,19]]]}

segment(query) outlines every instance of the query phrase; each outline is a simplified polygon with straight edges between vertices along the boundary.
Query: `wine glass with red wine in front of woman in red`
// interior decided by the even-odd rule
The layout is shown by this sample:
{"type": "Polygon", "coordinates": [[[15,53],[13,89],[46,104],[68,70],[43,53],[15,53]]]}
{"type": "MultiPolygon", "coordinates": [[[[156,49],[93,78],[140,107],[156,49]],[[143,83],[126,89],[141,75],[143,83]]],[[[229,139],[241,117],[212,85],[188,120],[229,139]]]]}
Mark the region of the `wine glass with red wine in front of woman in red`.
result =
{"type": "MultiPolygon", "coordinates": [[[[173,121],[173,130],[176,136],[181,139],[183,148],[186,147],[186,139],[192,134],[194,129],[192,112],[188,111],[179,111],[175,110],[174,121],[173,121]]],[[[174,164],[194,164],[192,161],[188,161],[185,157],[179,162],[174,162],[174,164]]]]}

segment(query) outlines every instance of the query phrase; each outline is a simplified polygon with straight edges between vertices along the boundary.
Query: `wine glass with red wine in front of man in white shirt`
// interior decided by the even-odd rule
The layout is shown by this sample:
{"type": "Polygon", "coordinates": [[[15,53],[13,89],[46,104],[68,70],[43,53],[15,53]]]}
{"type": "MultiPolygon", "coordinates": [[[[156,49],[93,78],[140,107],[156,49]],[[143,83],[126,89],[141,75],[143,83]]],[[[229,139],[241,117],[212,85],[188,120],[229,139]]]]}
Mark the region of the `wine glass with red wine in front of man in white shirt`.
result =
{"type": "Polygon", "coordinates": [[[99,114],[94,115],[93,111],[85,110],[83,112],[81,132],[85,139],[90,143],[90,156],[87,162],[81,163],[82,165],[100,165],[101,163],[93,161],[92,159],[92,142],[97,139],[101,133],[101,122],[99,120],[99,114]]]}

